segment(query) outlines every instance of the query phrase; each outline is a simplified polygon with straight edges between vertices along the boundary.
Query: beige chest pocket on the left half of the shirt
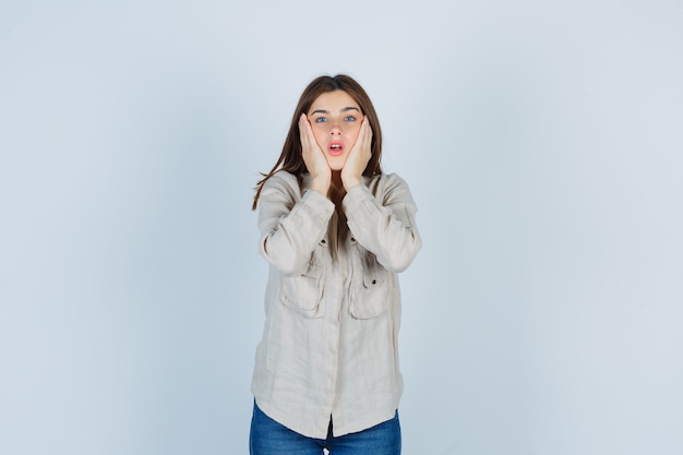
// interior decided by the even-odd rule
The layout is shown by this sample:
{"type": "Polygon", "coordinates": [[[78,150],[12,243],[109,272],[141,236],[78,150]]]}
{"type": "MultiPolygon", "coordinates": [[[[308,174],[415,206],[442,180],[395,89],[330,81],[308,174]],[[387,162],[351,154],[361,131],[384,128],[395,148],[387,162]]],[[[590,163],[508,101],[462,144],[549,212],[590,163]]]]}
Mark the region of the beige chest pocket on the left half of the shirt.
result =
{"type": "Polygon", "coordinates": [[[287,308],[309,318],[323,315],[324,267],[311,255],[307,270],[299,276],[284,276],[280,285],[280,301],[287,308]]]}

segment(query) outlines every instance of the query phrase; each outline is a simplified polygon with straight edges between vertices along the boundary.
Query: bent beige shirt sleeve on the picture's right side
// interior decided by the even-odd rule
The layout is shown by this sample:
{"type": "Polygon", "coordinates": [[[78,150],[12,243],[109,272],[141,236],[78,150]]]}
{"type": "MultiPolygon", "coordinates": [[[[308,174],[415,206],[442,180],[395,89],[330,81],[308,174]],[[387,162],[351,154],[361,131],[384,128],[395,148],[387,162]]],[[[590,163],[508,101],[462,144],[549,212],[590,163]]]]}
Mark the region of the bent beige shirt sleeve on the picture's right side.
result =
{"type": "Polygon", "coordinates": [[[374,189],[358,184],[343,201],[347,224],[357,242],[374,253],[391,272],[403,272],[422,247],[408,184],[396,175],[382,176],[374,189]]]}

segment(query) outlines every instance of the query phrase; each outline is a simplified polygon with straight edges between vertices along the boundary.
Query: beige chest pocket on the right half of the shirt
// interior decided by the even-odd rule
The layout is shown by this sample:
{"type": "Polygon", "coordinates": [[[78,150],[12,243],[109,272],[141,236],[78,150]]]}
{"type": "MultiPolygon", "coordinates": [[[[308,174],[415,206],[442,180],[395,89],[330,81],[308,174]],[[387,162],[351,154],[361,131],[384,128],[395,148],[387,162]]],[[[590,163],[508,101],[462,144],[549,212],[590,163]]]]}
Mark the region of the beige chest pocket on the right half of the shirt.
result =
{"type": "Polygon", "coordinates": [[[385,313],[391,301],[388,272],[378,258],[358,247],[361,263],[361,279],[355,286],[350,302],[351,315],[356,319],[376,318],[385,313]]]}

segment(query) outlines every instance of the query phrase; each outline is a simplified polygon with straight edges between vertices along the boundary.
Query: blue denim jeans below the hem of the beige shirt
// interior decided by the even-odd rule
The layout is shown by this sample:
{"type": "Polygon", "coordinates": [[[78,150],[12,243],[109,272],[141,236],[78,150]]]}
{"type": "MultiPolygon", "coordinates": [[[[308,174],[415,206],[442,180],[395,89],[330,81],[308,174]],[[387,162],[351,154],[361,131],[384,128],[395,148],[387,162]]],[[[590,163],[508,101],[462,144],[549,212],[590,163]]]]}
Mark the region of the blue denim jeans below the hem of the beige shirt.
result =
{"type": "Polygon", "coordinates": [[[398,411],[393,419],[358,433],[319,440],[299,434],[266,416],[254,403],[249,434],[251,455],[400,455],[398,411]]]}

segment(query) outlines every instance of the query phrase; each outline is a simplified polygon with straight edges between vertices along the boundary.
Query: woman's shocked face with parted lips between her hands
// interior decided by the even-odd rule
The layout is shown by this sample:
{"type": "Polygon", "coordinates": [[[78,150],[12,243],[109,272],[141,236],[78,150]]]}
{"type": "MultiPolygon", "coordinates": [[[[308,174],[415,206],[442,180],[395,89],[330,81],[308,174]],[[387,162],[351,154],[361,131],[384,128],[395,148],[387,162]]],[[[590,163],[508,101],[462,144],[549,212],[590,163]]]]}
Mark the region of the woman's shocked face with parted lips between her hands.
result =
{"type": "Polygon", "coordinates": [[[344,91],[327,92],[315,98],[307,117],[329,168],[342,170],[363,121],[360,106],[344,91]]]}

